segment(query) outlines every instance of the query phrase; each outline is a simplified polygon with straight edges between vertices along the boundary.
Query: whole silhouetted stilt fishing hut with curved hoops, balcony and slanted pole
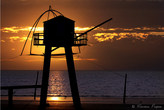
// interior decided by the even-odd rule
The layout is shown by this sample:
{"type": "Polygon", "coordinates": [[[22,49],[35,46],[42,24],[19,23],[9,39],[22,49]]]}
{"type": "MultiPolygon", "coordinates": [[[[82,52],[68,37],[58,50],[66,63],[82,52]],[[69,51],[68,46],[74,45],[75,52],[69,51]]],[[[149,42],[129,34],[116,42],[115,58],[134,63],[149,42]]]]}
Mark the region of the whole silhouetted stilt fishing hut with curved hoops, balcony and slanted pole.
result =
{"type": "MultiPolygon", "coordinates": [[[[40,97],[40,105],[45,106],[47,100],[47,90],[48,90],[48,80],[49,80],[49,71],[50,71],[50,62],[51,62],[51,52],[60,48],[65,48],[65,55],[67,60],[67,68],[69,74],[69,81],[71,87],[71,93],[73,97],[73,103],[76,109],[81,108],[75,67],[74,67],[74,60],[73,60],[73,53],[72,47],[73,46],[86,46],[87,45],[87,33],[92,31],[93,29],[103,25],[104,23],[112,20],[112,18],[106,20],[105,22],[95,26],[94,28],[81,33],[75,33],[75,21],[64,17],[60,12],[56,10],[52,10],[51,7],[49,10],[45,11],[34,23],[31,31],[34,29],[33,32],[33,39],[35,46],[45,46],[45,54],[44,56],[44,65],[43,65],[43,76],[42,76],[42,88],[41,88],[41,97],[40,97]],[[55,17],[47,20],[44,22],[44,33],[35,33],[35,28],[40,20],[40,18],[47,13],[52,12],[55,17]],[[55,12],[59,13],[60,15],[57,16],[55,12]],[[77,36],[78,35],[78,36],[77,36]],[[52,50],[52,47],[56,47],[52,50]]],[[[30,33],[27,36],[30,36],[30,33]]],[[[26,42],[24,44],[22,53],[24,51],[26,42]]],[[[32,41],[33,42],[33,41],[32,41]]],[[[32,44],[31,42],[31,44],[32,44]]],[[[32,48],[30,49],[30,55],[34,55],[31,53],[32,48]]],[[[22,55],[21,53],[21,55],[22,55]]]]}

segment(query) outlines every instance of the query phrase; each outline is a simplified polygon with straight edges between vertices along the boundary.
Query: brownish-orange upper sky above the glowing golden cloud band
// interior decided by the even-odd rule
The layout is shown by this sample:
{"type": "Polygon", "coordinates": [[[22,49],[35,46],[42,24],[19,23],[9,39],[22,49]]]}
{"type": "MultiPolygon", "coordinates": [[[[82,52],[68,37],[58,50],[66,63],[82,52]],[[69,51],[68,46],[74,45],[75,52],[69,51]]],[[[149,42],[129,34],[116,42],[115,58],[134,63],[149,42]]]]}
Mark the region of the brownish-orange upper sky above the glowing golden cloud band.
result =
{"type": "MultiPolygon", "coordinates": [[[[109,17],[115,27],[164,26],[164,0],[55,0],[51,4],[77,26],[94,25],[109,17]]],[[[48,6],[47,0],[2,0],[2,25],[31,25],[48,6]]]]}

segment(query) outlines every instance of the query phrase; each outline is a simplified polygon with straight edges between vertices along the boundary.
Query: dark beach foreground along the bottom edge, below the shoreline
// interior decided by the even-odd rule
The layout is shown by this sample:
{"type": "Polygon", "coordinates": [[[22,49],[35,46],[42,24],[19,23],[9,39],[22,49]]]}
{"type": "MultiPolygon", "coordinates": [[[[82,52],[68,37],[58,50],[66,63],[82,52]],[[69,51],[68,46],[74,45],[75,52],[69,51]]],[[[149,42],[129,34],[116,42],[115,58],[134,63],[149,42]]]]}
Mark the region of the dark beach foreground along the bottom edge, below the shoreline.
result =
{"type": "MultiPolygon", "coordinates": [[[[127,104],[121,100],[82,100],[82,110],[164,110],[164,99],[129,99],[127,104]]],[[[39,100],[14,100],[13,106],[8,106],[7,100],[1,101],[1,110],[76,110],[72,101],[48,101],[45,109],[39,107],[39,100]]]]}

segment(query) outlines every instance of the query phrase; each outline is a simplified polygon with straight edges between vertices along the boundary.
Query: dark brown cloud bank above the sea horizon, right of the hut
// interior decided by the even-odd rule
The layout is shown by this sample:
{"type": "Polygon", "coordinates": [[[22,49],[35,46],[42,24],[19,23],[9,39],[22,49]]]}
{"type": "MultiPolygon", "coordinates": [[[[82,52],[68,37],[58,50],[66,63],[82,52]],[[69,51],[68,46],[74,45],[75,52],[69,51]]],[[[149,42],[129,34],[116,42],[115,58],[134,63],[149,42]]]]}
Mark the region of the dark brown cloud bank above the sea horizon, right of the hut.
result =
{"type": "Polygon", "coordinates": [[[148,36],[145,41],[125,38],[87,47],[82,57],[97,59],[93,65],[100,70],[164,70],[163,47],[164,37],[160,36],[148,36]]]}

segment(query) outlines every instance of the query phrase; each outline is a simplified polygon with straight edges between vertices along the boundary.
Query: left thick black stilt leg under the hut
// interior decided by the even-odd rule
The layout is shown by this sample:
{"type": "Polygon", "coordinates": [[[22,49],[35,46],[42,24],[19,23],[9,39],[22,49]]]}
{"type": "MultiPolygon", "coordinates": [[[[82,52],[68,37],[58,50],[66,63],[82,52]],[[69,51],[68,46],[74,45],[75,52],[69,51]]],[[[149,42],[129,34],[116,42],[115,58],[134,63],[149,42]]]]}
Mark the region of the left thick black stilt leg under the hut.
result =
{"type": "Polygon", "coordinates": [[[41,107],[44,107],[46,105],[50,62],[51,62],[51,46],[46,46],[45,47],[45,55],[44,55],[41,96],[40,96],[40,106],[41,107]]]}

